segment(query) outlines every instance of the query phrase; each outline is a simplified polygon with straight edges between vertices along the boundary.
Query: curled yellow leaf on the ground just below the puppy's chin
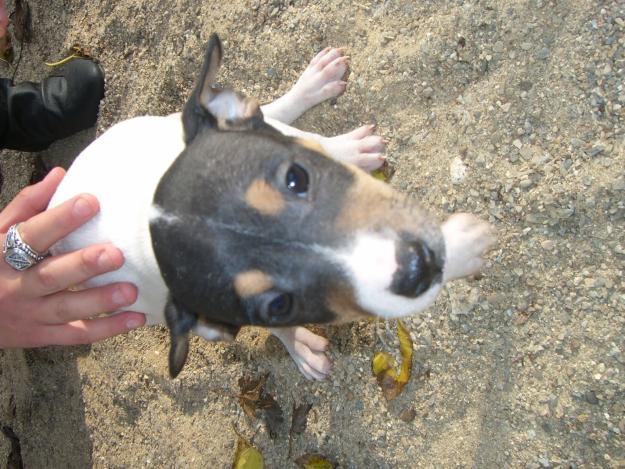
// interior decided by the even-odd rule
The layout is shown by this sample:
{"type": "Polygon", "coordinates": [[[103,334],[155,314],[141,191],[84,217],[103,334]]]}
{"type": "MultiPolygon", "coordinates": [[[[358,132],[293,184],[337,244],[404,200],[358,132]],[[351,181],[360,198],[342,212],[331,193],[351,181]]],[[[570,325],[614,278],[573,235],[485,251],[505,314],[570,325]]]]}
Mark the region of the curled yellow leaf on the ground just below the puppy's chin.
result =
{"type": "Polygon", "coordinates": [[[387,352],[376,352],[373,356],[373,374],[387,401],[395,399],[401,393],[412,370],[412,339],[401,321],[397,321],[397,335],[401,355],[399,371],[395,359],[387,352]]]}

